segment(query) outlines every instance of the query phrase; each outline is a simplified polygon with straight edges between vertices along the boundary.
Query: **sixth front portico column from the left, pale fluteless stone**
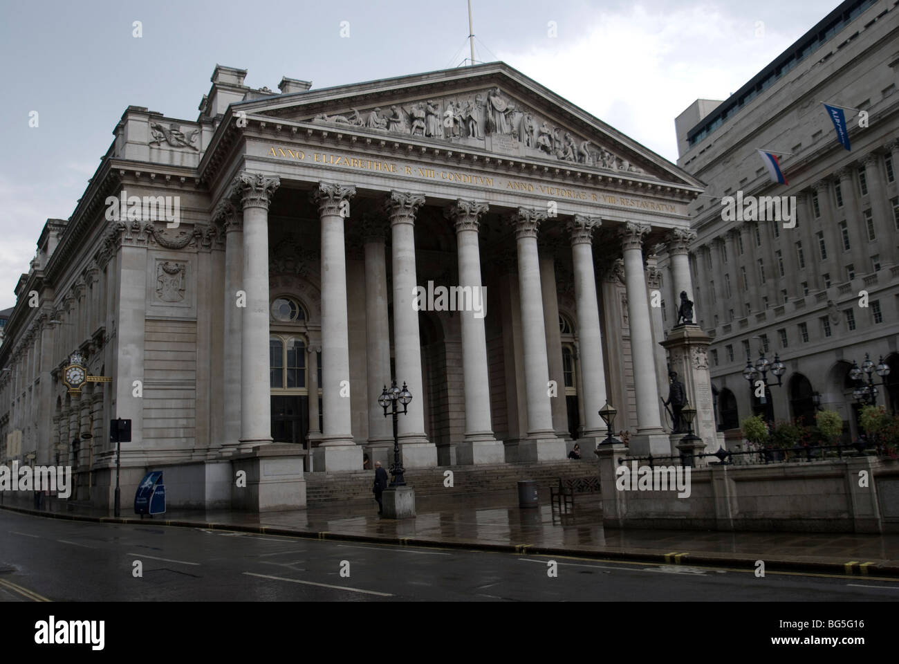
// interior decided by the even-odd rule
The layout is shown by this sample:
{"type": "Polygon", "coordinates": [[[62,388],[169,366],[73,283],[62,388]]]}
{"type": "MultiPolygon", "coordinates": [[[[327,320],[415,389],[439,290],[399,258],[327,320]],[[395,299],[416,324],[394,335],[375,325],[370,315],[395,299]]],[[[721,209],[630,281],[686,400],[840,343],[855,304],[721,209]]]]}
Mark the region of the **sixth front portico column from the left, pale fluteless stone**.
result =
{"type": "Polygon", "coordinates": [[[600,309],[596,300],[596,275],[593,273],[593,229],[601,221],[596,217],[574,215],[567,228],[571,233],[571,253],[574,265],[574,302],[577,307],[577,333],[581,348],[583,379],[584,437],[603,435],[599,415],[606,402],[606,374],[602,364],[602,333],[600,309]]]}

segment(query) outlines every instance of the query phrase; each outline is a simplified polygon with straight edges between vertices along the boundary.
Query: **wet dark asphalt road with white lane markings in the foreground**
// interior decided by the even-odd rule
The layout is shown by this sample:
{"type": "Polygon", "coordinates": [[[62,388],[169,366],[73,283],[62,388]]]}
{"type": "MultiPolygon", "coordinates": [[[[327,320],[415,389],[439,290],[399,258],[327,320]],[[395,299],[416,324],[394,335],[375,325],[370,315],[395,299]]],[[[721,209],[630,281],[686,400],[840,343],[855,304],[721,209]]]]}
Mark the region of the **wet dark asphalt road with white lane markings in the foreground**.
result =
{"type": "Polygon", "coordinates": [[[0,511],[0,601],[899,599],[895,580],[549,560],[0,511]]]}

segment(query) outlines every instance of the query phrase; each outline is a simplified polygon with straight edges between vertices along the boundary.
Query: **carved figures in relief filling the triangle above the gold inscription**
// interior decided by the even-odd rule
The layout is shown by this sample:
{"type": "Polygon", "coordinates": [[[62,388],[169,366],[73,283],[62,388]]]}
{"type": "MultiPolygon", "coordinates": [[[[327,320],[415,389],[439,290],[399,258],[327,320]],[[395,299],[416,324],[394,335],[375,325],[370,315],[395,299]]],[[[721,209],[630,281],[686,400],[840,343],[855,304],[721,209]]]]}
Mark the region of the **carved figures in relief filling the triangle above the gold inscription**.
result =
{"type": "Polygon", "coordinates": [[[512,100],[498,87],[455,96],[397,103],[389,109],[351,108],[349,113],[319,113],[310,121],[359,127],[385,134],[464,143],[494,152],[559,161],[610,171],[643,174],[624,157],[575,136],[551,119],[512,100]],[[489,144],[487,141],[490,141],[489,144]]]}

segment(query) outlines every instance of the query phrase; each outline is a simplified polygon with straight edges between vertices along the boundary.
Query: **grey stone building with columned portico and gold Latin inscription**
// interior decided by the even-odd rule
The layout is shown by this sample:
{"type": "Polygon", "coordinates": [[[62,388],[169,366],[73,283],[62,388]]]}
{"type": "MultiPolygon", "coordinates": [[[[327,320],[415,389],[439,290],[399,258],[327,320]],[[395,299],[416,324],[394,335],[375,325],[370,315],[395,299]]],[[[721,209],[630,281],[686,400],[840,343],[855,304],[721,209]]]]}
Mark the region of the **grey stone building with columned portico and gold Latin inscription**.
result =
{"type": "Polygon", "coordinates": [[[48,220],[0,347],[0,440],[105,504],[130,418],[123,495],[159,467],[200,492],[170,504],[224,505],[247,463],[387,462],[395,377],[407,468],[563,459],[607,399],[636,450],[668,449],[649,300],[696,178],[503,63],[280,94],[245,74],[216,67],[196,121],[129,106],[48,220]],[[453,287],[484,309],[444,306],[453,287]],[[70,394],[75,352],[111,382],[70,394]]]}

